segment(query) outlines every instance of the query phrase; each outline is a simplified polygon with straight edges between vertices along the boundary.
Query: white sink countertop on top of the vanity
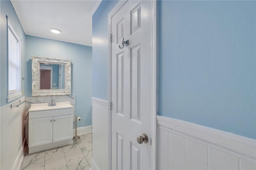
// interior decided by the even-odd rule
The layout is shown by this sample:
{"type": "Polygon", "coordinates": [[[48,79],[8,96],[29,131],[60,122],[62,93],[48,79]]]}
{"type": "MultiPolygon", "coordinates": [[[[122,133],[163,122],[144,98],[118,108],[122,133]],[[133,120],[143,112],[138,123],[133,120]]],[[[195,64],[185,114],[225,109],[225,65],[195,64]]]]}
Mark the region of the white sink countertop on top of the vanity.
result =
{"type": "Polygon", "coordinates": [[[55,104],[56,104],[56,106],[48,106],[48,103],[31,104],[31,107],[28,111],[34,112],[34,111],[46,111],[46,110],[73,108],[73,106],[70,105],[69,101],[56,102],[55,104]]]}

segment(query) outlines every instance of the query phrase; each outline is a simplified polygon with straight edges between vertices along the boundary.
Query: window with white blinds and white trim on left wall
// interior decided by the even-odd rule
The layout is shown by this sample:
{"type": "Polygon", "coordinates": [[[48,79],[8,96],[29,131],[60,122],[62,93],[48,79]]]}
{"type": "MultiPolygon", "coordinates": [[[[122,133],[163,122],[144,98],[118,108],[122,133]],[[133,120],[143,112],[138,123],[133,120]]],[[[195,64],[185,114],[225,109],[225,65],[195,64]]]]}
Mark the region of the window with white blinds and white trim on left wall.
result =
{"type": "Polygon", "coordinates": [[[21,42],[8,22],[8,97],[7,102],[21,97],[21,42]]]}

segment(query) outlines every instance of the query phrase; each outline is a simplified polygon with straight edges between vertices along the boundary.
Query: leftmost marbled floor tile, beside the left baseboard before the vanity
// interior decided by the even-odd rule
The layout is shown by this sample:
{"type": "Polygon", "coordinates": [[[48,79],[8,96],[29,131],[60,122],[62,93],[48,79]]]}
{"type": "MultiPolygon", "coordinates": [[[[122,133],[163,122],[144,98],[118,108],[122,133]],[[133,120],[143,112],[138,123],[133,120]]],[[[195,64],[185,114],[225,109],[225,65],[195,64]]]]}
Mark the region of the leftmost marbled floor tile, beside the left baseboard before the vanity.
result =
{"type": "Polygon", "coordinates": [[[26,155],[21,170],[44,170],[44,156],[44,151],[26,155]]]}

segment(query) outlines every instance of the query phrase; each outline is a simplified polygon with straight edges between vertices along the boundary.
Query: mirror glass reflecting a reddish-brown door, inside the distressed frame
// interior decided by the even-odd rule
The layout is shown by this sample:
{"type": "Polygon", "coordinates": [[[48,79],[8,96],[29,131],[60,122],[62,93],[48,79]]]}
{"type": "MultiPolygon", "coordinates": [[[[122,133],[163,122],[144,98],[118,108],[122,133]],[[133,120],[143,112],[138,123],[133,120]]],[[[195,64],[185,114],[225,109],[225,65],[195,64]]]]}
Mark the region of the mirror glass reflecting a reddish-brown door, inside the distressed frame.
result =
{"type": "Polygon", "coordinates": [[[64,64],[40,63],[40,89],[64,89],[64,64]]]}

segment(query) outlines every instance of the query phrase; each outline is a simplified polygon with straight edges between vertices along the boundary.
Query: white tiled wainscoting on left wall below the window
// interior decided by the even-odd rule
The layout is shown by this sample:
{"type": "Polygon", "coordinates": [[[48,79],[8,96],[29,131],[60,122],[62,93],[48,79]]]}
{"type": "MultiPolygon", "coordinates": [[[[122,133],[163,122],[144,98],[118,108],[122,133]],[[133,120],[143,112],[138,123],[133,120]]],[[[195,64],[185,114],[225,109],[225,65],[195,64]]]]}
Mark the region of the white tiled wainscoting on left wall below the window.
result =
{"type": "Polygon", "coordinates": [[[20,169],[25,145],[25,100],[22,97],[0,108],[0,152],[1,170],[20,169]]]}

